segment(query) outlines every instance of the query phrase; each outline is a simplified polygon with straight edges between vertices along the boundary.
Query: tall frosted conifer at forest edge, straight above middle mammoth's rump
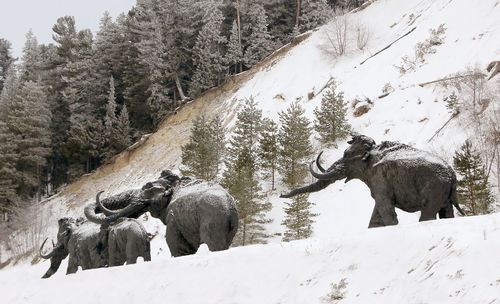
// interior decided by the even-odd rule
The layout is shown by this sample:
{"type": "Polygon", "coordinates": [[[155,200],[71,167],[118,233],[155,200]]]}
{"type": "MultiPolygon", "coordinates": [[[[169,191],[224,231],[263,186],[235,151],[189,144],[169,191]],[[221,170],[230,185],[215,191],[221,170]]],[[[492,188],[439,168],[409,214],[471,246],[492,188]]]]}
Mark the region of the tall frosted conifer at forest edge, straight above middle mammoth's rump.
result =
{"type": "Polygon", "coordinates": [[[205,5],[203,17],[205,24],[196,38],[193,48],[193,64],[195,71],[191,79],[190,95],[219,85],[224,77],[225,65],[222,60],[223,48],[227,41],[221,35],[224,16],[220,10],[220,1],[210,1],[205,5]]]}

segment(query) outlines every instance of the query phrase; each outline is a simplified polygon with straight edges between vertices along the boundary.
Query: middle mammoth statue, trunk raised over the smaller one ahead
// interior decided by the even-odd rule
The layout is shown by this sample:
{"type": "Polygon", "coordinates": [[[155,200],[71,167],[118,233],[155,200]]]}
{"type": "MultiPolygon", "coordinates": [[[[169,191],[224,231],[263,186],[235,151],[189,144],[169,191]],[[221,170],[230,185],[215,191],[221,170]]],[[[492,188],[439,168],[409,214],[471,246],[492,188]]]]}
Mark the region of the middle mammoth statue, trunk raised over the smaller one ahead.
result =
{"type": "Polygon", "coordinates": [[[179,178],[170,170],[140,189],[102,201],[99,195],[85,207],[89,221],[106,224],[149,211],[167,226],[166,241],[174,257],[194,254],[202,243],[210,251],[228,249],[238,228],[235,201],[224,188],[191,177],[179,178]]]}

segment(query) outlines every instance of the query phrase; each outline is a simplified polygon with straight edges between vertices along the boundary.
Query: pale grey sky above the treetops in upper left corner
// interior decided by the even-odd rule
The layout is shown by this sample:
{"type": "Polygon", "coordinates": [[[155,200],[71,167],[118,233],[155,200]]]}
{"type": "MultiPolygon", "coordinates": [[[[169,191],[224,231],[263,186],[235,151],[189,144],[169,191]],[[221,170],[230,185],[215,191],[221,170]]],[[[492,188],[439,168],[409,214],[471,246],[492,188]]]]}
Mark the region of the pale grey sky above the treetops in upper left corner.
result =
{"type": "Polygon", "coordinates": [[[31,28],[38,43],[50,43],[57,18],[74,16],[77,30],[96,33],[107,10],[113,19],[126,13],[136,0],[0,0],[0,38],[12,43],[12,55],[21,57],[26,33],[31,28]]]}

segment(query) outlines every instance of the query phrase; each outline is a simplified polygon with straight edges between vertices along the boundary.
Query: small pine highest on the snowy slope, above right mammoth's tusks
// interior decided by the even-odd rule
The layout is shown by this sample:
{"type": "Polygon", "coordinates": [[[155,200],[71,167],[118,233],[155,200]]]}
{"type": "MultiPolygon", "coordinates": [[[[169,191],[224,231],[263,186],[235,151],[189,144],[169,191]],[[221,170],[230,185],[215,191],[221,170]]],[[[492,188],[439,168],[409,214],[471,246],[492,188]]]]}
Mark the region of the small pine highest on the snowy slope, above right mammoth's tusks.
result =
{"type": "Polygon", "coordinates": [[[316,122],[314,129],[318,132],[319,140],[323,144],[333,144],[349,135],[351,126],[347,115],[347,103],[344,101],[344,92],[336,92],[337,86],[332,82],[323,93],[320,108],[314,109],[316,122]]]}

